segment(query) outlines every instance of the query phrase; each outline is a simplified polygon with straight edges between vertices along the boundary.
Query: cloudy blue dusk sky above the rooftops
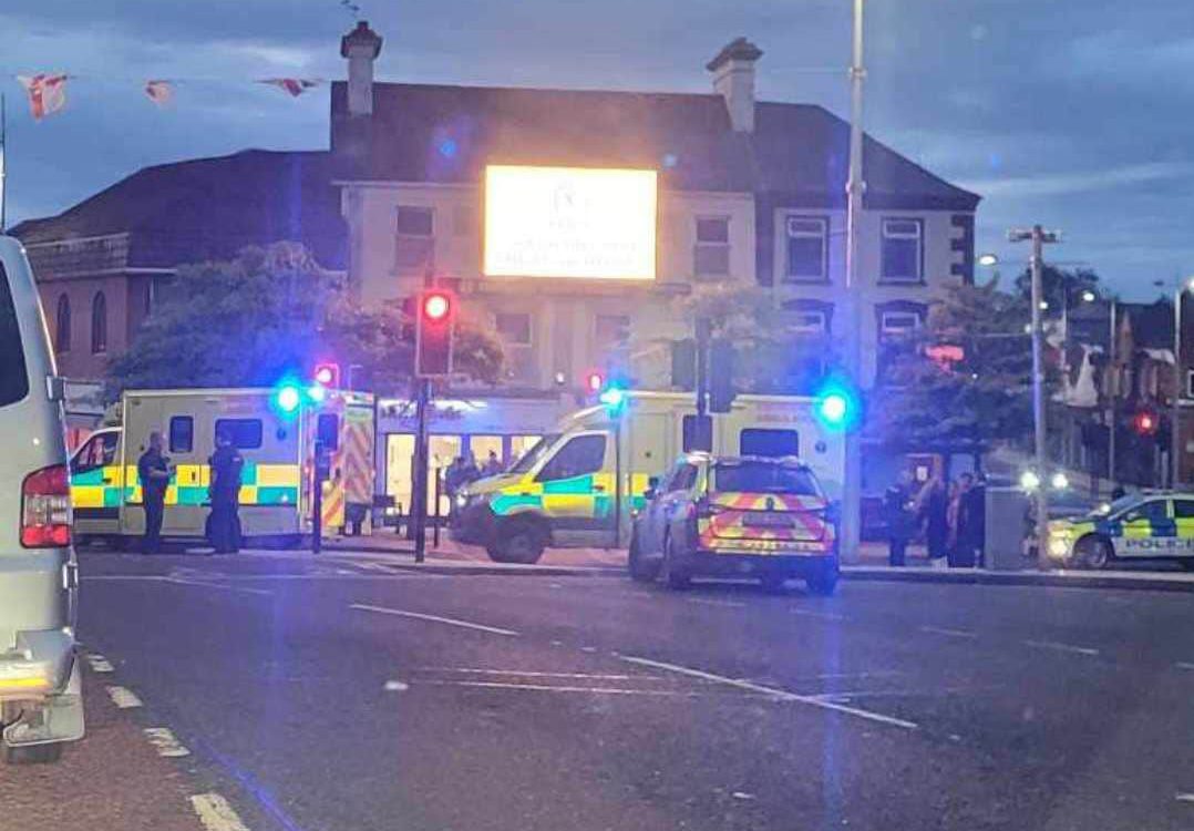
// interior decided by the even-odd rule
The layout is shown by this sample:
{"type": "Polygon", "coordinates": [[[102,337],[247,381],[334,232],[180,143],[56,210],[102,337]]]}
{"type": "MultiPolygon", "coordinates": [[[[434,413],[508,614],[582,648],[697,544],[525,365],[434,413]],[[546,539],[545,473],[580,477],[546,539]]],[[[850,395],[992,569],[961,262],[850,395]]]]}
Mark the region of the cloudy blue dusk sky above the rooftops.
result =
{"type": "MultiPolygon", "coordinates": [[[[358,0],[384,37],[380,80],[704,92],[732,37],[764,50],[758,93],[847,115],[849,0],[358,0]]],[[[8,221],[54,214],[134,172],[248,147],[327,147],[344,78],[338,0],[6,0],[8,221]],[[67,72],[33,123],[16,75],[67,72]],[[177,79],[156,109],[147,79],[177,79]]],[[[1130,298],[1194,275],[1194,13],[1189,0],[869,0],[866,124],[984,196],[979,251],[1005,273],[1008,227],[1065,233],[1054,260],[1130,298]]]]}

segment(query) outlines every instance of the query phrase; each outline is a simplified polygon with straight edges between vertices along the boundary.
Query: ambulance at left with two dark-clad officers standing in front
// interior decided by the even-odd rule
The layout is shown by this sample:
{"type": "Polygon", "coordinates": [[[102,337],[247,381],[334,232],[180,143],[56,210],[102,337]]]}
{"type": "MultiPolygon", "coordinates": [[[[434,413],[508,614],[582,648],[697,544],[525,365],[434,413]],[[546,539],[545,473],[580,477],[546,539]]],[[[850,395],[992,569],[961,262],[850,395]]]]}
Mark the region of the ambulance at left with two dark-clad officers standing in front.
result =
{"type": "Polygon", "coordinates": [[[226,432],[245,458],[240,524],[246,542],[296,547],[314,528],[315,442],[331,456],[322,484],[322,530],[353,518],[368,524],[374,488],[374,405],[363,393],[283,386],[277,389],[130,390],[119,424],[97,430],[70,460],[75,538],[124,549],[144,533],[137,458],[149,433],[162,435],[170,460],[162,536],[199,540],[210,513],[208,458],[226,432]]]}

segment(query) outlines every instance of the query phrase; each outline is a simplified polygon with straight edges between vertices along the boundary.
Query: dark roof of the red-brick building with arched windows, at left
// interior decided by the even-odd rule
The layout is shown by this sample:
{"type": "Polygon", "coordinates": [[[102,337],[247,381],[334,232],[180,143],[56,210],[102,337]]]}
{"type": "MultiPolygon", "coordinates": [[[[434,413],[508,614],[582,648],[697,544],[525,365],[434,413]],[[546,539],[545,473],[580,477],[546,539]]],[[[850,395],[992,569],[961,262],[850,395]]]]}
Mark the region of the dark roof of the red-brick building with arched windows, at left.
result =
{"type": "Polygon", "coordinates": [[[224,259],[247,245],[296,240],[325,267],[343,269],[347,233],[331,166],[325,150],[154,165],[12,234],[30,245],[128,233],[130,267],[224,259]]]}

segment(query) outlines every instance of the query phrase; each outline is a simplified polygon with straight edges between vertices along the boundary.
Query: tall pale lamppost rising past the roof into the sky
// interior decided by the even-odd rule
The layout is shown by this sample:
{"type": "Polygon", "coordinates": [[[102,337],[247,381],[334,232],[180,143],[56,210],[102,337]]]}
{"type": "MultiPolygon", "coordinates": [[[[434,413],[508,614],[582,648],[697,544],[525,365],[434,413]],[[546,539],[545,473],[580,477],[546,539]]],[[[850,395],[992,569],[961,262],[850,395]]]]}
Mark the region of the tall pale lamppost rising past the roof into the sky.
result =
{"type": "MultiPolygon", "coordinates": [[[[850,60],[850,171],[845,183],[845,369],[856,388],[862,382],[862,284],[858,278],[858,221],[866,192],[862,171],[862,64],[863,12],[866,0],[854,0],[854,38],[850,60]]],[[[854,558],[858,550],[862,523],[862,454],[858,431],[845,433],[845,469],[842,476],[842,540],[839,550],[854,558]]]]}

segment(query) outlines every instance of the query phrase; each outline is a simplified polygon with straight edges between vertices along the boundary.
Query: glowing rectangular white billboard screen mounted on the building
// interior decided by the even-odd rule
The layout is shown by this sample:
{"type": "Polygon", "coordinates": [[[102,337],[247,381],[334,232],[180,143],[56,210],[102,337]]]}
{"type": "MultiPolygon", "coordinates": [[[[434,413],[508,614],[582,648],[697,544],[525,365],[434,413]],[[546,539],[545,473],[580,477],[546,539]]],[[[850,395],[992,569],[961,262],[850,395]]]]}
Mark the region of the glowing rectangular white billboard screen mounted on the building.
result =
{"type": "Polygon", "coordinates": [[[654,171],[485,171],[485,276],[654,279],[654,171]]]}

